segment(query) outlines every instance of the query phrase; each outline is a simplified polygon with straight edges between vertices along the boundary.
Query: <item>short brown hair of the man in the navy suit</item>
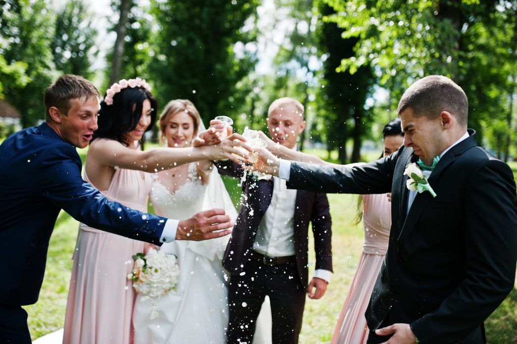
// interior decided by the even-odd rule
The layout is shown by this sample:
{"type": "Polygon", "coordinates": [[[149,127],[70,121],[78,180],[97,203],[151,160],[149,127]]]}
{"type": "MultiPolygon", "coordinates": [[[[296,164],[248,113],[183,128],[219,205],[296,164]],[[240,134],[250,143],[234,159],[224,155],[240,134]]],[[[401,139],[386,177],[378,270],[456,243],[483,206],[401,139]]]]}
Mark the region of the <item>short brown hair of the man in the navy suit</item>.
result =
{"type": "Polygon", "coordinates": [[[65,74],[52,83],[45,91],[45,118],[51,121],[49,109],[58,108],[65,116],[70,110],[70,99],[88,100],[92,97],[100,99],[97,88],[83,77],[65,74]]]}

